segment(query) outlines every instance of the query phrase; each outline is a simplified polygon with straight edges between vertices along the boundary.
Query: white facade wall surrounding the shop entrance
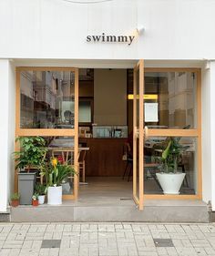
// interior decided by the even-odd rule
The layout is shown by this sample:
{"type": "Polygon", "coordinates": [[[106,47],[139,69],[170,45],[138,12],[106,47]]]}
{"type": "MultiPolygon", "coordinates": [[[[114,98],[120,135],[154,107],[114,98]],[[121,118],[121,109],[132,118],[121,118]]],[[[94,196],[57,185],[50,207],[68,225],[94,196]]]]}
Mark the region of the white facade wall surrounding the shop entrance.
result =
{"type": "Polygon", "coordinates": [[[203,200],[215,210],[214,61],[205,67],[215,59],[214,10],[215,0],[0,0],[0,211],[13,189],[15,66],[128,68],[140,58],[146,67],[202,67],[203,200]],[[137,37],[130,46],[87,42],[102,33],[137,37]]]}

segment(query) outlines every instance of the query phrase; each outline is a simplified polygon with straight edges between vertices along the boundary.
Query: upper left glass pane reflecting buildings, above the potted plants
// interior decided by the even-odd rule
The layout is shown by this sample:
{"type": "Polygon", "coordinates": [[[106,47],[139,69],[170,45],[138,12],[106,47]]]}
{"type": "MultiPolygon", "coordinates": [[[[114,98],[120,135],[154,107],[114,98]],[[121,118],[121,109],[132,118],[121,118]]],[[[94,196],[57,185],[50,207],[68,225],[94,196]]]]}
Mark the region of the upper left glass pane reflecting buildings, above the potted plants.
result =
{"type": "Polygon", "coordinates": [[[74,128],[73,72],[23,71],[20,92],[21,128],[74,128]]]}

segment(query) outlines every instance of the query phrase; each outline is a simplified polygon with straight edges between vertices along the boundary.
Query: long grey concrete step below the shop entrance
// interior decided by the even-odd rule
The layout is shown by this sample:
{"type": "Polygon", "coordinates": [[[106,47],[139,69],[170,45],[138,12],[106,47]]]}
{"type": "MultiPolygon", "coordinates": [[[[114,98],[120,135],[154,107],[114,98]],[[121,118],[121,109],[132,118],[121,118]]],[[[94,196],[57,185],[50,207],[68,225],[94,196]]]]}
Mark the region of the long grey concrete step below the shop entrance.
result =
{"type": "Polygon", "coordinates": [[[11,221],[146,221],[209,222],[209,210],[200,200],[147,200],[136,205],[90,205],[64,202],[61,206],[19,206],[11,209],[11,221]]]}

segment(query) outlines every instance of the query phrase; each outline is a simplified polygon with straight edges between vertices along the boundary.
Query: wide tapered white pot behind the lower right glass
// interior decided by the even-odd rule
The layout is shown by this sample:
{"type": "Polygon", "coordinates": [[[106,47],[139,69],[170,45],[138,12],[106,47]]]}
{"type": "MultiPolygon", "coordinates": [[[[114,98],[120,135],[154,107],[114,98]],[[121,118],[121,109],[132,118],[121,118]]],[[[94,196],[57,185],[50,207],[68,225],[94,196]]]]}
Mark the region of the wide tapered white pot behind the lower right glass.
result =
{"type": "Polygon", "coordinates": [[[159,179],[159,184],[163,189],[164,194],[173,194],[173,195],[179,194],[179,189],[185,177],[185,173],[159,172],[159,173],[156,173],[156,176],[159,179]]]}

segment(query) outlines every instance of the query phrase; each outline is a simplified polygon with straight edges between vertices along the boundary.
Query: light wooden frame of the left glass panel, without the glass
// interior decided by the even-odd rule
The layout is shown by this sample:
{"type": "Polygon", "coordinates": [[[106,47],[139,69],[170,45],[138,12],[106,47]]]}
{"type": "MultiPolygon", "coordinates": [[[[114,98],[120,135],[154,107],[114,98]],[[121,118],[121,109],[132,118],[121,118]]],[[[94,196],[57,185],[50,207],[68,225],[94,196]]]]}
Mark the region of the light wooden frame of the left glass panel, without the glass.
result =
{"type": "MultiPolygon", "coordinates": [[[[15,81],[15,138],[19,136],[68,136],[74,137],[74,165],[78,172],[78,68],[77,67],[16,67],[15,81]],[[72,129],[57,128],[20,128],[20,74],[23,71],[69,71],[75,74],[75,127],[72,129]]],[[[15,143],[15,151],[19,147],[15,143]]],[[[18,190],[17,171],[15,170],[15,191],[18,190]]],[[[78,176],[74,176],[74,191],[71,195],[63,195],[63,200],[77,199],[78,176]]]]}

